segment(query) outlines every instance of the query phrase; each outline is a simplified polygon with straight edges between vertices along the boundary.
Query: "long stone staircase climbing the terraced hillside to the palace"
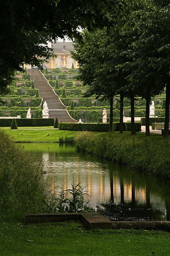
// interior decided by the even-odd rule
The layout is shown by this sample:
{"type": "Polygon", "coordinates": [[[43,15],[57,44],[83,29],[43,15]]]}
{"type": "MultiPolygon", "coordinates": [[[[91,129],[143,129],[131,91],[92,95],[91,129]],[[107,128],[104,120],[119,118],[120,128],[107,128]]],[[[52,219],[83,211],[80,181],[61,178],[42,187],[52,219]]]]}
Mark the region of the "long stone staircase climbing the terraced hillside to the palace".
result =
{"type": "Polygon", "coordinates": [[[76,123],[66,110],[66,106],[61,102],[59,96],[55,94],[46,78],[39,69],[28,69],[30,78],[34,81],[34,86],[38,89],[40,97],[47,102],[49,108],[49,118],[57,118],[59,122],[76,123]]]}

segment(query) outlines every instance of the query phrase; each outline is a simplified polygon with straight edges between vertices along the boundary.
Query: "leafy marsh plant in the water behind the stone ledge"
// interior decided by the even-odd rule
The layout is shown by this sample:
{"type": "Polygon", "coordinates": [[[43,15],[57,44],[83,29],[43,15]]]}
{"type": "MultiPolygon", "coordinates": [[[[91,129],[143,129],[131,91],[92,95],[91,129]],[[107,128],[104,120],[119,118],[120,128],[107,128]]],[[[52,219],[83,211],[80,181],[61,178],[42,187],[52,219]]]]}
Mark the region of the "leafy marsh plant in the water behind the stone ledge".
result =
{"type": "Polygon", "coordinates": [[[89,195],[85,191],[85,186],[71,185],[71,189],[64,190],[63,186],[56,195],[50,195],[45,202],[45,212],[93,212],[87,205],[89,195]],[[88,198],[87,200],[85,198],[88,198]]]}

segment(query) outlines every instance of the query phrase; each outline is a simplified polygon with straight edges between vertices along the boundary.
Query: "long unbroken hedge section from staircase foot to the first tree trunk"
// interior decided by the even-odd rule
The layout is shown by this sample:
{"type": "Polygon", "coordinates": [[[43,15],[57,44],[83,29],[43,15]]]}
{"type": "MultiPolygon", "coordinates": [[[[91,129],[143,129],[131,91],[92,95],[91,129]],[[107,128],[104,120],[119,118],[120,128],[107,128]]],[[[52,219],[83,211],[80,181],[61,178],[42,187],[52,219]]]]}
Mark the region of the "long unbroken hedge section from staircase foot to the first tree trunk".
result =
{"type": "Polygon", "coordinates": [[[93,131],[93,132],[108,132],[109,124],[97,124],[97,123],[58,123],[58,128],[60,130],[73,130],[73,131],[93,131]]]}

